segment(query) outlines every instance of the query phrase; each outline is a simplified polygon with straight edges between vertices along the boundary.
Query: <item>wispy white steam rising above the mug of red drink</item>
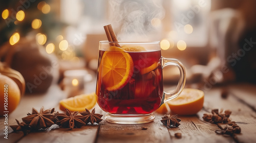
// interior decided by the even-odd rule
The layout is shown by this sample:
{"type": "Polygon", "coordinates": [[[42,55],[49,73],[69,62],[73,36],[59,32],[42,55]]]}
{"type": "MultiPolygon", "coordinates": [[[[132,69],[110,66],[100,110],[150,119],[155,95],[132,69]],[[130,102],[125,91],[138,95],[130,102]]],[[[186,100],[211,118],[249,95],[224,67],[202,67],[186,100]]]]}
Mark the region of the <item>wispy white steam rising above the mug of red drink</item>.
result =
{"type": "Polygon", "coordinates": [[[112,0],[111,22],[119,27],[119,40],[149,40],[148,35],[157,32],[152,19],[162,19],[165,11],[159,0],[112,0]]]}

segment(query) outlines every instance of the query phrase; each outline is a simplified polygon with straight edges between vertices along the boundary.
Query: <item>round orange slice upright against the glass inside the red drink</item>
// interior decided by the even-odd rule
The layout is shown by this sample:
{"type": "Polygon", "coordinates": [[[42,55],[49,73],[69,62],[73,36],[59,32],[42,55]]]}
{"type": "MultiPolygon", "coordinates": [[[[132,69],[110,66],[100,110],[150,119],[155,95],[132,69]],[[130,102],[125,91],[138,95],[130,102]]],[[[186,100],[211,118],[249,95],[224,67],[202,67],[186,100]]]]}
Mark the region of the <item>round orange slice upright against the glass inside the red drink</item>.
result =
{"type": "Polygon", "coordinates": [[[119,47],[111,46],[105,51],[100,62],[99,74],[107,90],[120,89],[129,82],[133,75],[133,59],[120,51],[119,47]]]}

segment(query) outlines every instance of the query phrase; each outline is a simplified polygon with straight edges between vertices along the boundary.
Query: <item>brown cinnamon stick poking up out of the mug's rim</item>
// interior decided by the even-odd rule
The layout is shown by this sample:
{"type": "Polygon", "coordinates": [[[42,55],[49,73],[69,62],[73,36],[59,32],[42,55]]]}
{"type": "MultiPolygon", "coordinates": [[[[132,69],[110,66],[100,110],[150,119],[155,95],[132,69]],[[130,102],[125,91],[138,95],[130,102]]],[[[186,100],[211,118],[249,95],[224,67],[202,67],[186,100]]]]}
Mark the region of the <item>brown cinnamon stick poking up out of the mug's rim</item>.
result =
{"type": "MultiPolygon", "coordinates": [[[[104,30],[105,30],[106,37],[108,38],[109,42],[118,42],[118,40],[116,38],[116,34],[111,25],[104,26],[104,30]]],[[[120,47],[120,45],[118,43],[110,43],[110,45],[120,47]]]]}

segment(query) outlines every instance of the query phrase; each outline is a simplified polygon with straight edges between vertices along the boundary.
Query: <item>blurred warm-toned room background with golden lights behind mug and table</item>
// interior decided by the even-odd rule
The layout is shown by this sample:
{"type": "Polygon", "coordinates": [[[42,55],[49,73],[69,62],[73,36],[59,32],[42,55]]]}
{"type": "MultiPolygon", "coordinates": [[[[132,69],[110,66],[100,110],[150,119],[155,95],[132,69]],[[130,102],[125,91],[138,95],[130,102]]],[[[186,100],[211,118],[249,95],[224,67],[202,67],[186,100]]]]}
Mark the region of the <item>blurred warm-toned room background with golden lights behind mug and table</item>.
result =
{"type": "MultiPolygon", "coordinates": [[[[79,76],[95,82],[98,43],[111,23],[118,40],[161,41],[162,56],[185,65],[186,86],[256,83],[255,7],[254,0],[2,0],[0,59],[23,75],[27,93],[75,86],[79,76]]],[[[163,72],[164,83],[177,83],[178,69],[163,72]]]]}

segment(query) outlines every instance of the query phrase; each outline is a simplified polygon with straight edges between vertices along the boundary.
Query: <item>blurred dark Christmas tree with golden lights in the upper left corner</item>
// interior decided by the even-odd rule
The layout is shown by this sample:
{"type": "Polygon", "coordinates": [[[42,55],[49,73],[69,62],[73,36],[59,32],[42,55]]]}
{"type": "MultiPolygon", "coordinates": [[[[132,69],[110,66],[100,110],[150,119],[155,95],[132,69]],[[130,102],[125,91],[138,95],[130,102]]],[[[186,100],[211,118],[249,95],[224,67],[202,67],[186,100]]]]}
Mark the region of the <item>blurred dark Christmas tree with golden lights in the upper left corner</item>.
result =
{"type": "MultiPolygon", "coordinates": [[[[27,35],[36,37],[40,45],[51,43],[50,46],[54,46],[63,39],[60,34],[65,27],[59,20],[59,3],[60,1],[48,0],[2,0],[0,46],[7,41],[13,45],[20,37],[27,35]]],[[[47,52],[53,53],[54,49],[47,52]]]]}

